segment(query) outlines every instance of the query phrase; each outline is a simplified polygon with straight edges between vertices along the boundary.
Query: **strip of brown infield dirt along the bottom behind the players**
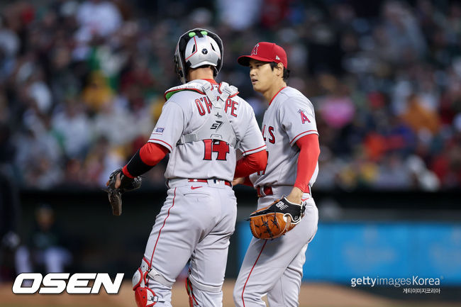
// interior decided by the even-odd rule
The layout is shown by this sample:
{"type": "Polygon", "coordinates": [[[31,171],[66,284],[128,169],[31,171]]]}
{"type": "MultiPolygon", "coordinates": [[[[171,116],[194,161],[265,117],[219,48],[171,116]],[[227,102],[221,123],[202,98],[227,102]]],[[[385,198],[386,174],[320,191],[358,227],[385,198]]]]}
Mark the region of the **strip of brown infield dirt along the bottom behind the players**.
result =
{"type": "MultiPolygon", "coordinates": [[[[233,280],[223,286],[223,307],[233,307],[233,280]]],[[[184,283],[173,286],[172,305],[189,307],[184,283]]],[[[0,284],[0,307],[136,307],[130,281],[123,282],[119,294],[13,294],[11,284],[0,284]]],[[[335,284],[309,283],[301,286],[299,307],[455,307],[460,303],[440,301],[399,301],[335,284]]]]}

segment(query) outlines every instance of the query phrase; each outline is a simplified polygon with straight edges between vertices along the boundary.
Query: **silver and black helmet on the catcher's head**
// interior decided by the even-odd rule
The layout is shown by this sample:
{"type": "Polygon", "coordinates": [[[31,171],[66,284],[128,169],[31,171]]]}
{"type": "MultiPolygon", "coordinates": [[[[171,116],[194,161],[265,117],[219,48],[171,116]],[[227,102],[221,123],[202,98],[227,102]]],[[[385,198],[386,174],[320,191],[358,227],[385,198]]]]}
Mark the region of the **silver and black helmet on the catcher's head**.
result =
{"type": "Polygon", "coordinates": [[[223,67],[223,42],[215,33],[201,28],[187,31],[176,45],[174,63],[179,80],[187,82],[187,69],[202,65],[214,66],[216,77],[223,67]]]}

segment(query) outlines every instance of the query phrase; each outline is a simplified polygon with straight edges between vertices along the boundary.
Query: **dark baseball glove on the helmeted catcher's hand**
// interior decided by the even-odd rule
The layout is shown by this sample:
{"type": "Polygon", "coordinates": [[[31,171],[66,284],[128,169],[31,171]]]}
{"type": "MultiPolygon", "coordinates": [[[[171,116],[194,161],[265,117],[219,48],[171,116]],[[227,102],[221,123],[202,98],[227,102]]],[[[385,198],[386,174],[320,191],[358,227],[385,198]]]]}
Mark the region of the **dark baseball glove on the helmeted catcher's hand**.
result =
{"type": "Polygon", "coordinates": [[[109,176],[109,181],[106,183],[107,189],[104,191],[109,195],[109,203],[111,203],[112,214],[114,216],[120,216],[122,213],[122,194],[128,191],[139,189],[141,186],[141,177],[130,178],[126,177],[122,169],[116,169],[109,176]],[[117,174],[120,174],[121,185],[116,188],[117,174]]]}

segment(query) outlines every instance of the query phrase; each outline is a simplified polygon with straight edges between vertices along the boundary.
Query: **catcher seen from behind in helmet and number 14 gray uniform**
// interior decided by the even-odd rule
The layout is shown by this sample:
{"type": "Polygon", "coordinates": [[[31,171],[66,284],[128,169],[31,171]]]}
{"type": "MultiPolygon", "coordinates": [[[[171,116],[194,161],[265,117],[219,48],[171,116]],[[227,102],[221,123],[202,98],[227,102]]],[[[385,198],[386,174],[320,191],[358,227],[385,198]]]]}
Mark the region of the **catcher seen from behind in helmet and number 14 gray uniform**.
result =
{"type": "Polygon", "coordinates": [[[218,35],[195,28],[174,54],[181,86],[165,92],[165,105],[148,143],[117,176],[116,187],[147,172],[167,153],[167,199],[155,219],[144,257],[133,276],[138,307],[172,306],[171,289],[187,264],[190,306],[222,306],[229,237],[236,201],[230,182],[235,150],[238,174],[263,170],[265,142],[251,106],[234,86],[217,84],[223,62],[218,35]]]}

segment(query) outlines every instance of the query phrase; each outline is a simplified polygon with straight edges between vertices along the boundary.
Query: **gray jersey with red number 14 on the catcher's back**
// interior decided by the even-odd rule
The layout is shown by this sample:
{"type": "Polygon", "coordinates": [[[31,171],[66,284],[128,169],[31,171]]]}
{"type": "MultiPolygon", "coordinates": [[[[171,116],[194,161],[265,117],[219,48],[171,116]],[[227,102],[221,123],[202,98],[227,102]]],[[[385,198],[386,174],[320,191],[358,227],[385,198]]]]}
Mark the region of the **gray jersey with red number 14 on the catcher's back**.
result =
{"type": "MultiPolygon", "coordinates": [[[[204,125],[207,116],[213,116],[210,110],[211,102],[196,91],[179,91],[163,106],[149,142],[159,143],[171,152],[165,178],[189,178],[194,174],[195,178],[233,180],[234,147],[225,142],[211,144],[211,140],[176,146],[182,135],[197,130],[204,125]]],[[[228,117],[235,136],[240,140],[238,149],[243,155],[265,149],[255,113],[245,100],[238,96],[227,99],[224,111],[226,114],[220,115],[228,117]]]]}

